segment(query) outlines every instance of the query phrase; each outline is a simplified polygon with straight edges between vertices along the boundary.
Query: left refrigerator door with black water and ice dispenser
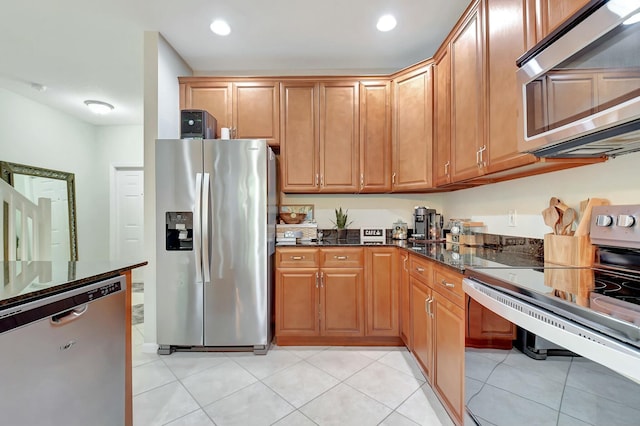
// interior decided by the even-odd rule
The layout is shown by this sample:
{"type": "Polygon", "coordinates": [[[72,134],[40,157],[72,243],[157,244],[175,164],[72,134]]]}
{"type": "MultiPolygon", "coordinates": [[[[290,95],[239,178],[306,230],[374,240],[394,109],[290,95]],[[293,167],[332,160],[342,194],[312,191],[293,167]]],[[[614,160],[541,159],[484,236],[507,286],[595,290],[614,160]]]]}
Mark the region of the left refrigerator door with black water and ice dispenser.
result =
{"type": "Polygon", "coordinates": [[[202,140],[156,141],[158,344],[203,344],[202,140]]]}

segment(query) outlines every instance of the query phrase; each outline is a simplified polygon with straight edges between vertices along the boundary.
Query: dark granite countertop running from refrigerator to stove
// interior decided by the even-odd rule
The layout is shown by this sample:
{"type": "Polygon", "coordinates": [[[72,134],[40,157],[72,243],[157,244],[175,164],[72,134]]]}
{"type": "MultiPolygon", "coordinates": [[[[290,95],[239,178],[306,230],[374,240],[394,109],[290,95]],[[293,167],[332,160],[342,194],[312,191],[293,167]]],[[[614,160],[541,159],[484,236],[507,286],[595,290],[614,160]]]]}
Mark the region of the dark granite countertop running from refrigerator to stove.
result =
{"type": "Polygon", "coordinates": [[[495,245],[491,247],[467,247],[458,244],[435,242],[416,242],[411,240],[391,240],[385,244],[362,244],[359,238],[336,240],[325,238],[322,241],[297,244],[279,243],[277,247],[400,247],[422,257],[434,260],[463,272],[467,268],[539,268],[544,261],[527,251],[516,250],[515,246],[495,245]]]}

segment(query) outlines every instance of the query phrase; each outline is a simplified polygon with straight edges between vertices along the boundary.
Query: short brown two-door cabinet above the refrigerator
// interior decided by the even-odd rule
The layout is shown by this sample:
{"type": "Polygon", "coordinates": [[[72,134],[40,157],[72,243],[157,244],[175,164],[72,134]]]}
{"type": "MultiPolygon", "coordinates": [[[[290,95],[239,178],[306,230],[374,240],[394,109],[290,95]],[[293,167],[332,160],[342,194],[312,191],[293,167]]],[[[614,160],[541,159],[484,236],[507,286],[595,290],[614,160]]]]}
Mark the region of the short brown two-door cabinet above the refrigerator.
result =
{"type": "Polygon", "coordinates": [[[280,143],[280,96],[276,81],[229,81],[215,77],[181,77],[181,107],[204,109],[234,139],[267,139],[280,143]]]}

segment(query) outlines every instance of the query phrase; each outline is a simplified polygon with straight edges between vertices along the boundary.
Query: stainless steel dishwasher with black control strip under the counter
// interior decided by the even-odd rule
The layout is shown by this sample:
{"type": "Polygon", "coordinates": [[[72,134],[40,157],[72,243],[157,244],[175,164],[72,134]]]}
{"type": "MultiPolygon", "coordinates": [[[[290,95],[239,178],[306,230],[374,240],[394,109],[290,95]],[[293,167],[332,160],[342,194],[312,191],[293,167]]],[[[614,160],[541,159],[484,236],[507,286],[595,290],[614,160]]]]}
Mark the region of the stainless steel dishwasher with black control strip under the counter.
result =
{"type": "Polygon", "coordinates": [[[124,424],[125,280],[0,310],[0,423],[124,424]]]}

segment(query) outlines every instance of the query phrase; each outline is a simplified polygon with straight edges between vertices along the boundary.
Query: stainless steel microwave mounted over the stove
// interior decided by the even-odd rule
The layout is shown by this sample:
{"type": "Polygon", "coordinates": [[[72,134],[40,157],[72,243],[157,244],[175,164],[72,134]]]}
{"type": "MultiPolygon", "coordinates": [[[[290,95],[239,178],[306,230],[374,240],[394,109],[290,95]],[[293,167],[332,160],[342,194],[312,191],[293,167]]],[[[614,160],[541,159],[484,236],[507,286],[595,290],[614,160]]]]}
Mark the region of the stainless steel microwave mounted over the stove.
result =
{"type": "Polygon", "coordinates": [[[590,1],[517,64],[520,151],[640,151],[640,0],[590,1]]]}

